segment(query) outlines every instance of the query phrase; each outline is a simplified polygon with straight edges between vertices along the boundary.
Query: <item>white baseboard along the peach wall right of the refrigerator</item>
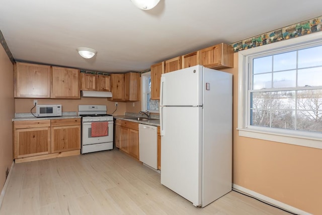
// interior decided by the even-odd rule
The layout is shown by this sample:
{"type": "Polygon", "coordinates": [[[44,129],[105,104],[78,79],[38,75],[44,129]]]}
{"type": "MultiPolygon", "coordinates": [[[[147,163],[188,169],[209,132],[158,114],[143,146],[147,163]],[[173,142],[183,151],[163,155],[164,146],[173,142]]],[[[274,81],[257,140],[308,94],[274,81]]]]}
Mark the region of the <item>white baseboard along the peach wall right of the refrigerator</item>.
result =
{"type": "Polygon", "coordinates": [[[232,184],[232,189],[235,190],[235,191],[240,191],[241,193],[245,193],[246,195],[249,195],[249,196],[252,196],[256,199],[259,199],[265,203],[268,203],[270,205],[273,205],[273,206],[276,206],[276,207],[279,207],[283,210],[287,210],[289,212],[292,212],[292,213],[295,213],[295,214],[301,214],[301,215],[312,215],[311,213],[308,213],[308,212],[305,212],[303,210],[300,210],[296,207],[293,207],[293,206],[290,206],[288,204],[285,204],[283,202],[280,202],[280,201],[277,201],[273,198],[270,198],[268,196],[265,196],[265,195],[262,195],[260,193],[257,193],[257,192],[254,192],[252,190],[249,190],[245,187],[241,187],[239,185],[236,185],[236,184],[232,184]]]}

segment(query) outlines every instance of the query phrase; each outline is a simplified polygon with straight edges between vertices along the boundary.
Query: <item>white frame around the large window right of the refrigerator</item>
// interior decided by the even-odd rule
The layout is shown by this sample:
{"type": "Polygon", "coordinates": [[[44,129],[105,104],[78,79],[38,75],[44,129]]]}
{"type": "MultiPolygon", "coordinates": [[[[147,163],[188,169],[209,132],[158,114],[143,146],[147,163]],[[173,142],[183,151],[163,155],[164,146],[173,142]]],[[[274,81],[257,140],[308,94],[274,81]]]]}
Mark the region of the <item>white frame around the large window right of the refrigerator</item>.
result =
{"type": "Polygon", "coordinates": [[[248,93],[251,60],[254,56],[274,54],[281,50],[322,45],[322,32],[271,43],[238,52],[238,115],[239,136],[282,142],[285,144],[322,149],[322,133],[284,130],[250,125],[250,95],[248,93]]]}

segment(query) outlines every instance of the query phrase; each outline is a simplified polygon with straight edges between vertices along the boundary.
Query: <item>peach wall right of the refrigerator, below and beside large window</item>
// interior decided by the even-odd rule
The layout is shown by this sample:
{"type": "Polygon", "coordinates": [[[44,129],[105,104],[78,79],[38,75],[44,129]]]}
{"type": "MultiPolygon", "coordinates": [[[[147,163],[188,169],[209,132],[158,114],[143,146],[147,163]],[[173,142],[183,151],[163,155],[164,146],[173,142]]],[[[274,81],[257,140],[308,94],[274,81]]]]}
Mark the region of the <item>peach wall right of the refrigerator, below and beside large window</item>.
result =
{"type": "Polygon", "coordinates": [[[322,214],[322,150],[238,135],[238,53],[233,74],[233,183],[312,214],[322,214]]]}

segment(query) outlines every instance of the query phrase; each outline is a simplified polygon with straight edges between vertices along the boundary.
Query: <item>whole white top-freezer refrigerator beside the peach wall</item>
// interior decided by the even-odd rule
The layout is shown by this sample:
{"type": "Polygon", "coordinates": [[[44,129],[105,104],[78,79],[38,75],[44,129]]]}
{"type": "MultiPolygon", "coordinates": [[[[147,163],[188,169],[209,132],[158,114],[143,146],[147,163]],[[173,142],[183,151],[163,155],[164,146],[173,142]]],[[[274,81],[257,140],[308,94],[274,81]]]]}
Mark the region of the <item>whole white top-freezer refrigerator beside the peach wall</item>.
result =
{"type": "Polygon", "coordinates": [[[161,183],[204,207],[231,190],[232,75],[201,65],[163,74],[161,183]]]}

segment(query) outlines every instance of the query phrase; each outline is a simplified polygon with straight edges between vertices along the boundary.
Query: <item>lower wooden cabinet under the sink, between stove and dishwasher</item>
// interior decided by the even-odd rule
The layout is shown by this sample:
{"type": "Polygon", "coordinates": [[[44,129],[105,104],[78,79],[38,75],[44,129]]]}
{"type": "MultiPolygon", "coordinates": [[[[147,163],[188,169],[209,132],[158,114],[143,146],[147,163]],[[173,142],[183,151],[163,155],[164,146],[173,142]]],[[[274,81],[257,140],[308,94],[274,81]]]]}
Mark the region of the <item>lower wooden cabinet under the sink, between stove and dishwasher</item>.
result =
{"type": "Polygon", "coordinates": [[[115,146],[139,159],[139,123],[116,119],[115,124],[115,146]]]}

